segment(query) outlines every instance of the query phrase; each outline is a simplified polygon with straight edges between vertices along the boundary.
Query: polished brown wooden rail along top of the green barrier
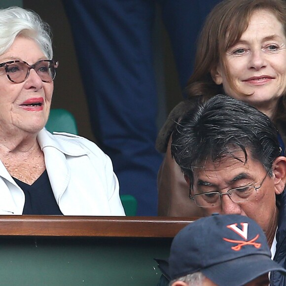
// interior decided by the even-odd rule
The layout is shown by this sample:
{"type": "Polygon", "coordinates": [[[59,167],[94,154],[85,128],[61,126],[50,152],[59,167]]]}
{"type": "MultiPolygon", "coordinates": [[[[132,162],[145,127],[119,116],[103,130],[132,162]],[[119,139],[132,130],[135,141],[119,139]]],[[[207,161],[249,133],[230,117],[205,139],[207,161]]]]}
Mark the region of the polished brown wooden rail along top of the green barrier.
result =
{"type": "Polygon", "coordinates": [[[0,215],[0,236],[174,237],[197,217],[0,215]]]}

